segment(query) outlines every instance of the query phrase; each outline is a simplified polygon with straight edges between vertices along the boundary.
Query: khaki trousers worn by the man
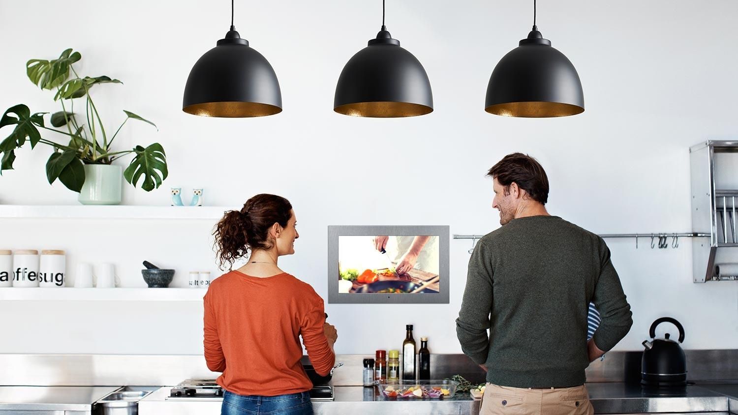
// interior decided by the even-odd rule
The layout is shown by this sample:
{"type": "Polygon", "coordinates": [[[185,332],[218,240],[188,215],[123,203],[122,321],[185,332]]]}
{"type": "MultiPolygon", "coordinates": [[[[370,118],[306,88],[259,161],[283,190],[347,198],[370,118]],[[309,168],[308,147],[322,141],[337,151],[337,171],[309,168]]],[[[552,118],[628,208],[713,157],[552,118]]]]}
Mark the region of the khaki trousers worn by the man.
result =
{"type": "Polygon", "coordinates": [[[480,415],[592,415],[587,388],[508,388],[487,383],[480,415]]]}

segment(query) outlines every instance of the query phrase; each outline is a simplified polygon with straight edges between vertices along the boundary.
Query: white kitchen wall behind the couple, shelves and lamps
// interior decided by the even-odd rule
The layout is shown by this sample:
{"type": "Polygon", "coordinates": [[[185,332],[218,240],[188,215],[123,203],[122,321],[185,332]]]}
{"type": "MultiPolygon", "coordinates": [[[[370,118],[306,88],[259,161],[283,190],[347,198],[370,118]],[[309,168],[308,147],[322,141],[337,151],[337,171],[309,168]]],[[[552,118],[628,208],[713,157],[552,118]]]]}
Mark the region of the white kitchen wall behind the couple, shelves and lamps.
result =
{"type": "MultiPolygon", "coordinates": [[[[126,186],[124,203],[167,204],[170,186],[204,186],[208,204],[240,206],[258,192],[286,196],[297,212],[297,254],[280,265],[326,293],[326,226],[448,224],[452,233],[496,229],[484,177],[513,151],[536,156],[551,181],[548,208],[598,233],[689,231],[689,153],[706,139],[735,139],[738,3],[723,1],[542,2],[545,38],[576,66],[587,111],[563,119],[511,119],[483,111],[489,74],[531,25],[527,1],[389,1],[387,27],[423,63],[435,111],[410,119],[356,119],[332,111],[346,61],[379,30],[379,1],[238,1],[235,23],[274,66],[284,111],[261,119],[207,119],[181,111],[193,63],[228,29],[228,1],[1,1],[0,109],[19,102],[59,111],[25,75],[26,60],[67,47],[96,86],[107,125],[127,109],[121,148],[164,145],[170,178],[151,193],[126,186]],[[387,203],[387,200],[394,200],[387,203]]],[[[10,133],[2,130],[2,136],[10,133]]],[[[49,149],[21,150],[0,178],[0,203],[75,204],[49,186],[49,149]]],[[[127,160],[127,159],[126,159],[127,160]]],[[[212,223],[0,220],[1,248],[63,248],[77,262],[116,262],[123,283],[142,285],[142,259],[215,269],[212,223]]],[[[634,325],[617,349],[640,349],[649,324],[672,315],[689,349],[738,346],[738,286],[692,283],[688,241],[635,250],[608,241],[632,304],[634,325]]],[[[404,324],[434,352],[460,352],[454,319],[469,241],[451,242],[448,305],[327,304],[339,353],[398,347],[404,324]]],[[[197,303],[0,303],[0,352],[199,353],[197,303]]]]}

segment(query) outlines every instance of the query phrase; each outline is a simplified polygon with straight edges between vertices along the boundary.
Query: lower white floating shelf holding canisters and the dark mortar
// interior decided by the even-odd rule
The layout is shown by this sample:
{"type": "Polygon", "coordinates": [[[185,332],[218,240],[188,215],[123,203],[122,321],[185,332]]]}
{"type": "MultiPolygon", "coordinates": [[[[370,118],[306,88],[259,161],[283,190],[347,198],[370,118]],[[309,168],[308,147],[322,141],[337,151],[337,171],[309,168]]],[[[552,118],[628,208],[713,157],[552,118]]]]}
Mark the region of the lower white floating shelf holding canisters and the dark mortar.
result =
{"type": "Polygon", "coordinates": [[[204,288],[0,288],[0,301],[202,301],[204,288]]]}

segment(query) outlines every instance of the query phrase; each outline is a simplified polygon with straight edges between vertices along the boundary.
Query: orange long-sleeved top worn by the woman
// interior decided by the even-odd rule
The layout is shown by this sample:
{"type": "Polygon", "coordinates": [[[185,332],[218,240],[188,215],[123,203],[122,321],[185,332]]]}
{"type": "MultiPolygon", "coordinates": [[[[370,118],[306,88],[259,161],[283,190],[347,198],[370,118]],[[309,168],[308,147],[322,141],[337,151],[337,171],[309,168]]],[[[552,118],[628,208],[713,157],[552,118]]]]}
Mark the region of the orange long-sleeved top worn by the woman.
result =
{"type": "Polygon", "coordinates": [[[230,271],[204,296],[204,349],[218,385],[234,394],[276,396],[312,387],[300,359],[303,348],[318,374],[336,356],[323,330],[323,299],[288,273],[267,278],[230,271]]]}

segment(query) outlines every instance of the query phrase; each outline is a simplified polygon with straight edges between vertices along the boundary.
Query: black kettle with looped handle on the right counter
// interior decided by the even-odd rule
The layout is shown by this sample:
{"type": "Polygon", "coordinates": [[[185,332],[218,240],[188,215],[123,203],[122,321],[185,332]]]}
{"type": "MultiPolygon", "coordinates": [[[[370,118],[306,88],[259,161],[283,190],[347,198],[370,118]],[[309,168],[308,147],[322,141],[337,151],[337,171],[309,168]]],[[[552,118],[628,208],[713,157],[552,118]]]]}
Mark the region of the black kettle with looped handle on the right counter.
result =
{"type": "Polygon", "coordinates": [[[687,362],[684,350],[679,345],[684,341],[684,327],[671,317],[662,317],[654,321],[649,329],[652,341],[644,341],[646,348],[641,360],[641,385],[657,388],[686,386],[687,362]],[[656,338],[656,327],[661,323],[672,323],[679,329],[679,342],[669,338],[656,338]]]}

